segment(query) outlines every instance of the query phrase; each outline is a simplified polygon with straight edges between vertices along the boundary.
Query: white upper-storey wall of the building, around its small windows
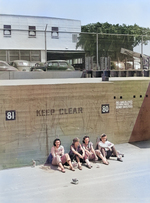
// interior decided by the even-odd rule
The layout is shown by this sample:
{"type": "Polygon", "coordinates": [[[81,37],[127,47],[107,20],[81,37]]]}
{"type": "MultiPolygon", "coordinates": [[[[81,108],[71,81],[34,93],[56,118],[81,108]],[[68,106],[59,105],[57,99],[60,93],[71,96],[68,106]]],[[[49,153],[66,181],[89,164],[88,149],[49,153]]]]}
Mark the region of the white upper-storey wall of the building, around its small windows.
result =
{"type": "Polygon", "coordinates": [[[3,14],[0,15],[0,49],[45,50],[46,24],[47,31],[51,31],[51,27],[58,27],[60,32],[59,39],[52,39],[51,33],[47,32],[47,50],[76,49],[76,43],[72,42],[72,33],[61,32],[80,32],[79,20],[3,14]],[[11,36],[3,36],[3,25],[11,25],[11,36]],[[28,26],[36,26],[36,37],[28,36],[28,26]]]}

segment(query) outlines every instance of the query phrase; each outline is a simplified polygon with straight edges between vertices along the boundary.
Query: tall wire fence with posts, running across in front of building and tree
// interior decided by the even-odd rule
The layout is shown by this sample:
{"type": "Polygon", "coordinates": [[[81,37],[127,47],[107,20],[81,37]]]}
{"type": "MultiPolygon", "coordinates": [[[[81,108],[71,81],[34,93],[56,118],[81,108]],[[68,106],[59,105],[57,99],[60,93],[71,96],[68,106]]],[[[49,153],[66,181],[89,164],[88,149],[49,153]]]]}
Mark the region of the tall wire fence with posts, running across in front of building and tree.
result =
{"type": "Polygon", "coordinates": [[[146,36],[0,29],[0,60],[68,60],[76,69],[149,69],[146,36]],[[121,49],[126,51],[122,51],[121,49]]]}

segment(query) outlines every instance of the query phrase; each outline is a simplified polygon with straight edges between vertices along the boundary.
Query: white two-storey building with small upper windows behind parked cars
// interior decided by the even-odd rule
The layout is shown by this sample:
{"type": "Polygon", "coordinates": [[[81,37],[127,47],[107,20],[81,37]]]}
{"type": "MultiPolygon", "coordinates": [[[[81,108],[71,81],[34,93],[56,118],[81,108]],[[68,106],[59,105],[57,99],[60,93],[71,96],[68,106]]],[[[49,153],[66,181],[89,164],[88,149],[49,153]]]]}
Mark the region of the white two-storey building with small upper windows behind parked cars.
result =
{"type": "Polygon", "coordinates": [[[0,60],[84,60],[76,50],[81,21],[0,14],[0,60]]]}

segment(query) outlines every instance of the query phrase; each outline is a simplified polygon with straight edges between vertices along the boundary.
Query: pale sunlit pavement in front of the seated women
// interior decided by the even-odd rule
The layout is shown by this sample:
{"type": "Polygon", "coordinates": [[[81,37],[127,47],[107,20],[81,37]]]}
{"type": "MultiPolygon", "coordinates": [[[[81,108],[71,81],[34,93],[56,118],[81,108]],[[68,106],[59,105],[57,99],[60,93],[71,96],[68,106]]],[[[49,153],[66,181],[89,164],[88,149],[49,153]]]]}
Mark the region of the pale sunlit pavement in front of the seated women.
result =
{"type": "Polygon", "coordinates": [[[116,148],[124,162],[111,158],[109,166],[97,162],[65,174],[42,166],[2,170],[0,203],[150,203],[150,141],[116,148]]]}

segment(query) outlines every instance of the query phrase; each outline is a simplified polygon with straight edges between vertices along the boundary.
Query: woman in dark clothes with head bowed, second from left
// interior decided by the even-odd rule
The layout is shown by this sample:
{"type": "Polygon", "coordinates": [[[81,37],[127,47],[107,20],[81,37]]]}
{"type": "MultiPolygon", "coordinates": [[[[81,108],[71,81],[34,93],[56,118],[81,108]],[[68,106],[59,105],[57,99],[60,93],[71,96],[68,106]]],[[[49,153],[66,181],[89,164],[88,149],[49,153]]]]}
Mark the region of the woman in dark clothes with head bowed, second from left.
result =
{"type": "Polygon", "coordinates": [[[84,159],[85,151],[80,144],[79,138],[76,137],[73,139],[69,155],[72,161],[77,161],[79,170],[82,170],[81,161],[84,159]]]}

